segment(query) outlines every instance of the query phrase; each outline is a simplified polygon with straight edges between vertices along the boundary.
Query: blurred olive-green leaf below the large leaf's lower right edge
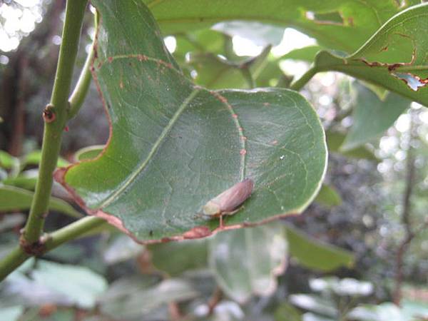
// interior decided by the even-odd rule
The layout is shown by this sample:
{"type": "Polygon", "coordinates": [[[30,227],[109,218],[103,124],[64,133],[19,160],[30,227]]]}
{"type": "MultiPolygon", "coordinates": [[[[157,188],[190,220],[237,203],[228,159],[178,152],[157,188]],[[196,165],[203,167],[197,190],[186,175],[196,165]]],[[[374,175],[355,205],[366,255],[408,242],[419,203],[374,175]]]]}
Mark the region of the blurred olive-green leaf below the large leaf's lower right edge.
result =
{"type": "Polygon", "coordinates": [[[337,246],[322,243],[287,225],[287,241],[290,254],[300,265],[313,270],[331,271],[338,267],[352,267],[354,255],[337,246]]]}

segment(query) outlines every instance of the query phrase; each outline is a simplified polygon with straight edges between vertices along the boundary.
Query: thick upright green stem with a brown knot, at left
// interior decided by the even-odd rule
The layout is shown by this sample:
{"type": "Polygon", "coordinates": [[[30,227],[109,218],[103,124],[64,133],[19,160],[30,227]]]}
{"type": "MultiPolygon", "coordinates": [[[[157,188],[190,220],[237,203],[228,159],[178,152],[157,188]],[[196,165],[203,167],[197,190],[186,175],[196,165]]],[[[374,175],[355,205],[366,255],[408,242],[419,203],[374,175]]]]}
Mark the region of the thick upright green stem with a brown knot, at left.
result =
{"type": "Polygon", "coordinates": [[[68,0],[66,5],[66,19],[63,26],[51,103],[44,111],[45,128],[39,179],[37,180],[29,219],[22,235],[23,240],[30,245],[39,242],[48,211],[53,181],[52,173],[56,168],[56,161],[61,148],[61,134],[68,119],[68,95],[86,3],[87,0],[68,0]]]}

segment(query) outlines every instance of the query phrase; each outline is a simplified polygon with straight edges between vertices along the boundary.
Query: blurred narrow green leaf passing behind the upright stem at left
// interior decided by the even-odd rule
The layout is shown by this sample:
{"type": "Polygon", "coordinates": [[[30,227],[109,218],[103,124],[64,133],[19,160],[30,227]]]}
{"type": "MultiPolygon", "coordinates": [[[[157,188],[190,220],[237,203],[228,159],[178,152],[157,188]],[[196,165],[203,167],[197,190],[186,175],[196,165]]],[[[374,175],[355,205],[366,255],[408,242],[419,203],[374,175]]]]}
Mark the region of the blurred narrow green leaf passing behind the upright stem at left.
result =
{"type": "MultiPolygon", "coordinates": [[[[11,212],[15,210],[28,210],[31,207],[34,193],[29,190],[23,190],[14,186],[0,186],[0,213],[11,212]]],[[[81,218],[70,204],[60,198],[51,197],[49,200],[49,209],[70,215],[73,218],[81,218]]]]}

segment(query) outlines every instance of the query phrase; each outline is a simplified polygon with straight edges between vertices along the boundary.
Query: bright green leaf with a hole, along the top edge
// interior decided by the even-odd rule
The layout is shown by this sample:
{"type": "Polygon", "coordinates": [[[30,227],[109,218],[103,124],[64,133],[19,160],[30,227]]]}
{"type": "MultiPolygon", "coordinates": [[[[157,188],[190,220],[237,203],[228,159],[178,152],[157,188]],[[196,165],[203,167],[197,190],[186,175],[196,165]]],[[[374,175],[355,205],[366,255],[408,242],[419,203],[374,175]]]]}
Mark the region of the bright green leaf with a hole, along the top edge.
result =
{"type": "Polygon", "coordinates": [[[327,48],[355,51],[391,16],[417,0],[143,0],[165,33],[218,21],[260,21],[292,26],[327,48]]]}

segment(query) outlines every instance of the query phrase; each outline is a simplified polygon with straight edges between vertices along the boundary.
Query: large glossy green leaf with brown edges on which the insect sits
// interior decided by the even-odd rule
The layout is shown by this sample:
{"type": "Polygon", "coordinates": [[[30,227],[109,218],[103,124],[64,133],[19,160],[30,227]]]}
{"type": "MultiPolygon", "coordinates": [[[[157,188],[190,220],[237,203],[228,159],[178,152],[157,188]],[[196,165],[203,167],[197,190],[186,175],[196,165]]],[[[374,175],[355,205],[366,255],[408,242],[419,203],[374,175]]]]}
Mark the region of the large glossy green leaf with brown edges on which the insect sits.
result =
{"type": "Polygon", "coordinates": [[[176,67],[156,22],[135,1],[93,1],[101,14],[94,76],[111,118],[101,156],[58,170],[88,213],[140,241],[200,238],[200,215],[244,178],[253,194],[225,225],[300,213],[325,173],[325,136],[312,107],[284,89],[208,91],[176,67]]]}

